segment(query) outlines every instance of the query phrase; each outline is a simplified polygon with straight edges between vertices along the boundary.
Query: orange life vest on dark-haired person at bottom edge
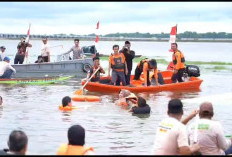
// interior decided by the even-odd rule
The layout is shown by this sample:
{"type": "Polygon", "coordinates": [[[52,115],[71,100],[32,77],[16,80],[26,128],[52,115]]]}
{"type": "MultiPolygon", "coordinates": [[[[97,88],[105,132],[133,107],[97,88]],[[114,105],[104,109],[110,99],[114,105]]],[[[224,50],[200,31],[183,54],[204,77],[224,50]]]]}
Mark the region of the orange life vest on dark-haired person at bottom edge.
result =
{"type": "Polygon", "coordinates": [[[57,155],[85,155],[85,153],[89,150],[93,151],[93,148],[79,145],[62,144],[57,151],[57,155]]]}

